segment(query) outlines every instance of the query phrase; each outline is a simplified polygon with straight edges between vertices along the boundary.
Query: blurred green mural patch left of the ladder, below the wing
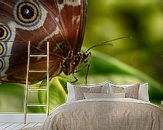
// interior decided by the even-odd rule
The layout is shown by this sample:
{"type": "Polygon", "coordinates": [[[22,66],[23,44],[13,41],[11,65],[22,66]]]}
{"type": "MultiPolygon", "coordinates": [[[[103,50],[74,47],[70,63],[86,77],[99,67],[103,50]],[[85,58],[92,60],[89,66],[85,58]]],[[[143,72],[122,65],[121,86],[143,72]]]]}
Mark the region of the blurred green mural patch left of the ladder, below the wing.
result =
{"type": "Polygon", "coordinates": [[[0,112],[23,112],[24,89],[20,84],[0,84],[0,112]]]}

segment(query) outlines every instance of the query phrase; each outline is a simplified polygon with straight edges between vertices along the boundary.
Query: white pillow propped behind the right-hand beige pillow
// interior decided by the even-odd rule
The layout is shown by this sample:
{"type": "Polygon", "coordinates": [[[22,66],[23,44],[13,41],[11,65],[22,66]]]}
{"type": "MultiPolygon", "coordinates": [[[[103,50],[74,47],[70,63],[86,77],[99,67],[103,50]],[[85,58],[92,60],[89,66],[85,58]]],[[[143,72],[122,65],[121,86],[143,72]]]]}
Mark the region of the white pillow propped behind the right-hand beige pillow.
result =
{"type": "MultiPolygon", "coordinates": [[[[109,86],[110,86],[109,89],[111,93],[112,93],[112,85],[114,84],[109,83],[109,86]]],[[[133,84],[122,84],[122,85],[116,85],[116,86],[126,88],[126,87],[133,86],[133,84]]],[[[148,83],[140,84],[138,99],[142,101],[150,102],[149,94],[148,94],[148,83]]]]}

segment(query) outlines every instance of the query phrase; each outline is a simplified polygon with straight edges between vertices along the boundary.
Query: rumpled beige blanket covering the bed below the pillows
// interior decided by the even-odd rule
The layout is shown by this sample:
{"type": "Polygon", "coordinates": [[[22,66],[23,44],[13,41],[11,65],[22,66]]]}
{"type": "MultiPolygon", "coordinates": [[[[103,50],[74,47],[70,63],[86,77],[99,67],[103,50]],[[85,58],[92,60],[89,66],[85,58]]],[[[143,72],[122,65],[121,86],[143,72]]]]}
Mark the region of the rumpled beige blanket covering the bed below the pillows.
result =
{"type": "Polygon", "coordinates": [[[43,130],[163,130],[163,110],[136,99],[88,99],[57,108],[43,130]]]}

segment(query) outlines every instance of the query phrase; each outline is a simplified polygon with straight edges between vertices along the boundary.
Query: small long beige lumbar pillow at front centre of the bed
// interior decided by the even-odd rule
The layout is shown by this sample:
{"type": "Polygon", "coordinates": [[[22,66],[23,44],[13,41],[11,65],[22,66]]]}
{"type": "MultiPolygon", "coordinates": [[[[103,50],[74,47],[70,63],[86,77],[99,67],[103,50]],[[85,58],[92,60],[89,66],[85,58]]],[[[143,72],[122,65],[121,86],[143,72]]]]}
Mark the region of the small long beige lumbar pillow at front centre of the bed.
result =
{"type": "Polygon", "coordinates": [[[92,99],[92,98],[125,98],[125,93],[112,93],[112,94],[84,93],[84,97],[86,99],[92,99]]]}

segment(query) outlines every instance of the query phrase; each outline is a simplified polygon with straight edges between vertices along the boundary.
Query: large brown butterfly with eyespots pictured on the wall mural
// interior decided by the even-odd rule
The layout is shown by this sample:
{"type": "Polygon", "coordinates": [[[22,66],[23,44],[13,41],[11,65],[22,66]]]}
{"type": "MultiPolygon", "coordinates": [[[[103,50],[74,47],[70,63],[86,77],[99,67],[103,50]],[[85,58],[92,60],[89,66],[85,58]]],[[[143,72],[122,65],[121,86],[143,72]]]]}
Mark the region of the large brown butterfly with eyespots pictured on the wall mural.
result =
{"type": "MultiPolygon", "coordinates": [[[[25,83],[29,40],[31,54],[46,53],[49,42],[50,77],[74,74],[90,55],[80,52],[86,7],[86,0],[0,0],[0,82],[25,83]]],[[[44,57],[30,60],[32,70],[45,66],[44,57]]],[[[44,78],[31,73],[29,82],[44,78]]]]}

